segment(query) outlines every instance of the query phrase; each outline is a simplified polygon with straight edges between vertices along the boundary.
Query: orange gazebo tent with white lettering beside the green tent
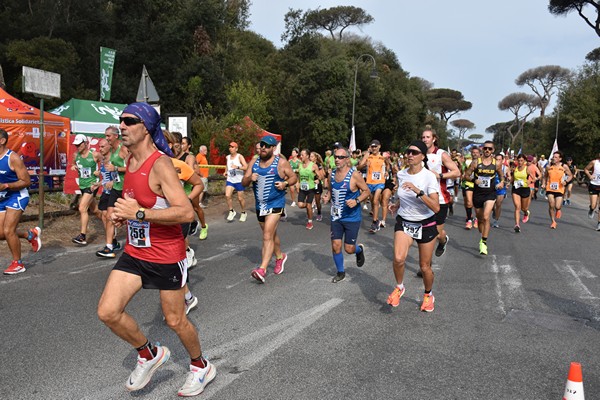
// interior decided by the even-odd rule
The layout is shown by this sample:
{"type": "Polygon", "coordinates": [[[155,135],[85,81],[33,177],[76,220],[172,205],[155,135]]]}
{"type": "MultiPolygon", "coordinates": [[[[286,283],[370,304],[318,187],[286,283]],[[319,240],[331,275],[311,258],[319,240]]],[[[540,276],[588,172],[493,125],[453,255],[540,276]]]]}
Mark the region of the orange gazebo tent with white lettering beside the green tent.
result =
{"type": "MultiPolygon", "coordinates": [[[[30,174],[39,173],[40,110],[0,88],[0,128],[9,133],[8,147],[23,158],[30,174]]],[[[65,173],[70,131],[69,118],[44,112],[44,170],[47,174],[65,173]]],[[[37,181],[37,176],[32,178],[37,181]]]]}

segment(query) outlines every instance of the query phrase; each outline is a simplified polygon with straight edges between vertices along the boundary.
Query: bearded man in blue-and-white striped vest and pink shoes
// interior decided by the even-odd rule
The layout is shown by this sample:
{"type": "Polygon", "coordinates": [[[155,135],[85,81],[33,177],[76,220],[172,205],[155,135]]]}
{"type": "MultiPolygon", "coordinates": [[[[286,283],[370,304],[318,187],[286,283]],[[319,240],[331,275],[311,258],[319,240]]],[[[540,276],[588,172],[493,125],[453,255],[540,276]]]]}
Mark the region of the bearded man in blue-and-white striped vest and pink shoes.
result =
{"type": "Polygon", "coordinates": [[[264,283],[267,266],[275,254],[276,275],[283,272],[287,254],[281,251],[281,240],[277,234],[277,225],[285,210],[285,194],[289,186],[297,182],[296,174],[290,163],[280,155],[275,155],[277,139],[264,136],[260,141],[260,153],[251,168],[246,170],[242,185],[252,183],[256,199],[256,217],[263,231],[262,259],[260,266],[252,270],[252,277],[264,283]]]}

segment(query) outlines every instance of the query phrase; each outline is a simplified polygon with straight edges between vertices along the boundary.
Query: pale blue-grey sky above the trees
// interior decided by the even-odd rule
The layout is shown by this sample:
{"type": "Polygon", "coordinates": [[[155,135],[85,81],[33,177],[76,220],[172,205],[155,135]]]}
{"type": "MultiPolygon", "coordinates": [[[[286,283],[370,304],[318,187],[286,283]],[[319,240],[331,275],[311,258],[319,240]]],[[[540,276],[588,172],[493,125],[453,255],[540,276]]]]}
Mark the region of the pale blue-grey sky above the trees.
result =
{"type": "Polygon", "coordinates": [[[346,31],[391,49],[410,76],[462,92],[473,108],[453,119],[472,121],[476,128],[469,134],[486,138],[487,127],[513,118],[498,109],[500,100],[514,92],[532,93],[515,84],[522,72],[543,65],[575,70],[588,52],[600,47],[600,37],[579,15],[556,17],[548,12],[548,0],[251,1],[249,29],[278,48],[290,8],[364,9],[374,22],[346,31]]]}

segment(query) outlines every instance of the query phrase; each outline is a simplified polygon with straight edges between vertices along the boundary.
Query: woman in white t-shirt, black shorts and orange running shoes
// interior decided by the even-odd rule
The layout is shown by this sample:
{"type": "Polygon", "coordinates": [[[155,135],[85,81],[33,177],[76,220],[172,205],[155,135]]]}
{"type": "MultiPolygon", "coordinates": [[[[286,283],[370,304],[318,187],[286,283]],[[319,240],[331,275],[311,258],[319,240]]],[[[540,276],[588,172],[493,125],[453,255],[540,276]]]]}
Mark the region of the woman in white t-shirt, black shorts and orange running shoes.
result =
{"type": "Polygon", "coordinates": [[[415,140],[406,150],[408,167],[398,172],[398,202],[390,205],[390,211],[397,212],[394,227],[394,277],[396,287],[388,296],[387,303],[398,307],[404,295],[404,268],[408,250],[413,241],[419,247],[419,267],[423,275],[425,294],[421,311],[432,312],[433,271],[431,259],[438,236],[435,214],[440,211],[440,184],[435,174],[426,169],[427,145],[415,140]]]}

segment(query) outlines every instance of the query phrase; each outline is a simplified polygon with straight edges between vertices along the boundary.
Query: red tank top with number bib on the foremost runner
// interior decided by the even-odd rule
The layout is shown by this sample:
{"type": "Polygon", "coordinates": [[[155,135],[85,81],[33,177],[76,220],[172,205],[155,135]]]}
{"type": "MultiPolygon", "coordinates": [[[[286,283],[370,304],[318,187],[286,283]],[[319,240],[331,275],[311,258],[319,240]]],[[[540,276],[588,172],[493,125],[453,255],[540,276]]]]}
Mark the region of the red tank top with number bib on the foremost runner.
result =
{"type": "MultiPolygon", "coordinates": [[[[125,171],[123,196],[133,197],[145,209],[159,210],[169,207],[167,199],[150,189],[150,171],[163,153],[155,151],[135,172],[125,171]]],[[[147,221],[127,221],[127,244],[125,252],[140,260],[160,264],[175,264],[185,259],[185,241],[181,225],[161,225],[147,221]]]]}

